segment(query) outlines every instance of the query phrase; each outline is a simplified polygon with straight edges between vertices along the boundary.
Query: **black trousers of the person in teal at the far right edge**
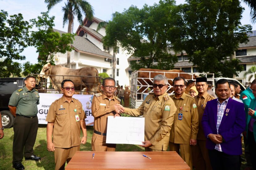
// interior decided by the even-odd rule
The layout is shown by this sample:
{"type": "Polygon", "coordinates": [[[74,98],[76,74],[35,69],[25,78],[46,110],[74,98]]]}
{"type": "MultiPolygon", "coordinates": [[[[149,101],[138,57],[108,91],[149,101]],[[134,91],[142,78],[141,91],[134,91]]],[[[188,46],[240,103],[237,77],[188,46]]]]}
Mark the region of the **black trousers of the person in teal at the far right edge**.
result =
{"type": "Polygon", "coordinates": [[[247,144],[249,145],[249,152],[250,152],[250,157],[252,160],[252,167],[254,170],[256,170],[256,161],[253,161],[256,159],[256,142],[254,139],[253,132],[248,131],[247,144]]]}

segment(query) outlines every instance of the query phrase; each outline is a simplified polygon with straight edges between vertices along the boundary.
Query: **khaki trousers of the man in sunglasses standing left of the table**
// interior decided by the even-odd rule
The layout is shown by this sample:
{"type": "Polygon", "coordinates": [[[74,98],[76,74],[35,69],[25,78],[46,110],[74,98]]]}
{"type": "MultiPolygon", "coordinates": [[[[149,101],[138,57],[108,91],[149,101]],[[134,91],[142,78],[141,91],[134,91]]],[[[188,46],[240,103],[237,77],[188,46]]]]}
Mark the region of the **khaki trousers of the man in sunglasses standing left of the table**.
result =
{"type": "Polygon", "coordinates": [[[65,163],[71,160],[72,156],[75,155],[76,151],[80,150],[79,146],[74,146],[71,148],[55,148],[54,160],[55,160],[55,170],[64,170],[65,163]]]}

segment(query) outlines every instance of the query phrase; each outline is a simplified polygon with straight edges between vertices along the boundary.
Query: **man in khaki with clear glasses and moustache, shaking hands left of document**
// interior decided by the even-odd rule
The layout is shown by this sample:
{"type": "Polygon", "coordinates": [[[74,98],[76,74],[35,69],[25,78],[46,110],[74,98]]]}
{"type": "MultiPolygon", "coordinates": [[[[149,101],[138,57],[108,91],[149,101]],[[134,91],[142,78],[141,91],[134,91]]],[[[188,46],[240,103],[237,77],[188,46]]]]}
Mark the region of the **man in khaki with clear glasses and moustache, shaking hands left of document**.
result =
{"type": "Polygon", "coordinates": [[[108,116],[117,116],[117,113],[120,110],[123,111],[123,108],[117,105],[120,104],[120,99],[114,96],[114,91],[116,90],[114,78],[104,78],[101,89],[103,94],[95,94],[92,102],[92,114],[94,117],[92,150],[115,151],[116,144],[106,144],[107,118],[108,116]]]}

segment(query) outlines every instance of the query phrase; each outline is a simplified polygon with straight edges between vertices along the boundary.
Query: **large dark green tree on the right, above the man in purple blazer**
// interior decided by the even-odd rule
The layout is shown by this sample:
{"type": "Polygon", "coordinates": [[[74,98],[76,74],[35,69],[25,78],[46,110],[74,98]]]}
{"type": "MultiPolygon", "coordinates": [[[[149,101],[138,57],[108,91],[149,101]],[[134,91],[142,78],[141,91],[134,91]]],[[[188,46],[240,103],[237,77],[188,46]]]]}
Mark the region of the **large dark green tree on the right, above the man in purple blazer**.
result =
{"type": "MultiPolygon", "coordinates": [[[[199,72],[233,77],[242,71],[238,59],[229,60],[239,43],[247,43],[250,25],[241,25],[239,0],[188,0],[183,5],[182,48],[199,72]]],[[[178,43],[177,43],[178,44],[178,43]]]]}

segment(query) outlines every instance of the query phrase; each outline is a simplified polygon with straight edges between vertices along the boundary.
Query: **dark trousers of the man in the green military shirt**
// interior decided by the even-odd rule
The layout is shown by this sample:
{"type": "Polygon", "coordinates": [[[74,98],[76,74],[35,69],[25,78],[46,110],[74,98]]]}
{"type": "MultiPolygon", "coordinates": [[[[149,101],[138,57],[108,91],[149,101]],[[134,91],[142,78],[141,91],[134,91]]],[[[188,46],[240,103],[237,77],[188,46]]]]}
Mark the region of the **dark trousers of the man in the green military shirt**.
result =
{"type": "Polygon", "coordinates": [[[13,163],[19,163],[24,156],[30,157],[34,154],[34,144],[38,130],[38,118],[27,118],[16,116],[13,124],[13,163]]]}

